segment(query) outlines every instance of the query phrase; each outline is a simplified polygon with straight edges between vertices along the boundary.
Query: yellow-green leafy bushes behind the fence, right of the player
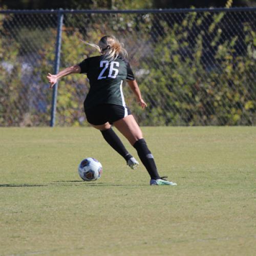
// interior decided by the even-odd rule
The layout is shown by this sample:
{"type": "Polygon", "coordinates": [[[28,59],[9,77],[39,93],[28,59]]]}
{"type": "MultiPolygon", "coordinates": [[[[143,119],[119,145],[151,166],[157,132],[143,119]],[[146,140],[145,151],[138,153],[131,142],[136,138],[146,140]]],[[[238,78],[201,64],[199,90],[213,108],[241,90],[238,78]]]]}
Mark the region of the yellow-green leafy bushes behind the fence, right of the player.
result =
{"type": "MultiPolygon", "coordinates": [[[[205,14],[207,16],[207,13],[205,14]]],[[[224,14],[214,16],[208,27],[213,33],[224,14]]],[[[202,18],[189,13],[181,23],[170,28],[161,22],[164,36],[154,47],[154,55],[146,57],[142,68],[148,71],[141,79],[140,88],[150,102],[147,114],[141,119],[144,125],[250,125],[255,115],[255,56],[253,44],[255,33],[249,25],[244,26],[247,52],[234,55],[237,36],[220,43],[219,28],[210,45],[218,45],[216,64],[207,68],[202,62],[205,31],[195,36],[195,43],[188,44],[187,32],[202,18]],[[191,56],[181,52],[189,47],[191,56]],[[159,59],[159,69],[151,65],[159,59]],[[148,91],[150,87],[150,91],[148,91]],[[165,111],[163,111],[165,110],[165,111]],[[145,119],[144,119],[145,118],[145,119]]],[[[139,114],[138,114],[139,115],[139,114]]]]}

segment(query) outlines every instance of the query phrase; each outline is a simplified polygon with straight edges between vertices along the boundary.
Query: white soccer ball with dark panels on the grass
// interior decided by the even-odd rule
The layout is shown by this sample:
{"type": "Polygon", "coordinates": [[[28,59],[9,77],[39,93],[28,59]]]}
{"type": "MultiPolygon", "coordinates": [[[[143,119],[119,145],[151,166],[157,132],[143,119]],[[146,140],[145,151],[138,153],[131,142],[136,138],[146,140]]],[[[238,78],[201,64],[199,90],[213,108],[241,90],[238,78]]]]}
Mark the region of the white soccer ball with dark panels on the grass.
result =
{"type": "Polygon", "coordinates": [[[97,159],[88,157],[78,165],[78,174],[84,181],[97,180],[102,174],[102,165],[97,159]]]}

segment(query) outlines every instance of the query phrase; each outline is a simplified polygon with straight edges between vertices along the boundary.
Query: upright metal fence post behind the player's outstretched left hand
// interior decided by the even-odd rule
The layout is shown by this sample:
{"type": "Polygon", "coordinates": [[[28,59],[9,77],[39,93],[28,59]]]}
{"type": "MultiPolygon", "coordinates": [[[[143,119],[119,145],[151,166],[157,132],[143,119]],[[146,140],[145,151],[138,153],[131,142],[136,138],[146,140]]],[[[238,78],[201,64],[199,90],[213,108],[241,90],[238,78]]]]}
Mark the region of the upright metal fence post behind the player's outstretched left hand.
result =
{"type": "MultiPolygon", "coordinates": [[[[59,72],[62,24],[63,24],[63,11],[62,9],[59,9],[56,48],[55,48],[54,74],[57,74],[59,72]]],[[[53,87],[53,92],[52,92],[52,111],[51,111],[51,124],[50,124],[51,127],[55,125],[57,92],[58,92],[58,82],[53,87]]]]}

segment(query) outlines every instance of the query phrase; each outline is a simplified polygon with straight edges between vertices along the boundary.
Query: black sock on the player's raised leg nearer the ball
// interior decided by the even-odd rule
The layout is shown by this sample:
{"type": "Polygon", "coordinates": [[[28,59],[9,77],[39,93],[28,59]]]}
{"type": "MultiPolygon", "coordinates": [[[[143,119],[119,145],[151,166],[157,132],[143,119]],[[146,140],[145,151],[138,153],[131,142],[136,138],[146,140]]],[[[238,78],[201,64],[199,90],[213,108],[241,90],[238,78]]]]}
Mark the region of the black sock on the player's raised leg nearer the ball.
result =
{"type": "Polygon", "coordinates": [[[114,148],[114,150],[125,159],[126,162],[133,157],[126,150],[122,141],[119,139],[112,128],[100,132],[102,133],[105,141],[108,142],[114,148]]]}

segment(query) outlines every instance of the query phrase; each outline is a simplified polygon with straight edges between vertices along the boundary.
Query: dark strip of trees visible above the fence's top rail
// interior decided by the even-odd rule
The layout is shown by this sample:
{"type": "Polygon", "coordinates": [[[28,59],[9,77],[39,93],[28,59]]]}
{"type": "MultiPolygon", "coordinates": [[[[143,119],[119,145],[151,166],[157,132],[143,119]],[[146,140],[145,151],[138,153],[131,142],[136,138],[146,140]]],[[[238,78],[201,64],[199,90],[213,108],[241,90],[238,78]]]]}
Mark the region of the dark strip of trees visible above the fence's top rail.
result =
{"type": "MultiPolygon", "coordinates": [[[[147,9],[224,7],[226,0],[0,0],[8,9],[147,9]]],[[[233,6],[255,6],[254,0],[234,0],[233,6]]]]}

